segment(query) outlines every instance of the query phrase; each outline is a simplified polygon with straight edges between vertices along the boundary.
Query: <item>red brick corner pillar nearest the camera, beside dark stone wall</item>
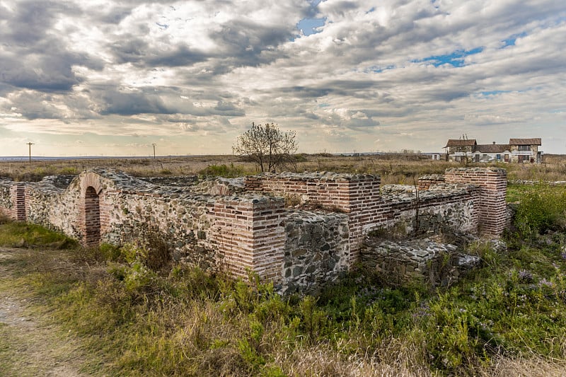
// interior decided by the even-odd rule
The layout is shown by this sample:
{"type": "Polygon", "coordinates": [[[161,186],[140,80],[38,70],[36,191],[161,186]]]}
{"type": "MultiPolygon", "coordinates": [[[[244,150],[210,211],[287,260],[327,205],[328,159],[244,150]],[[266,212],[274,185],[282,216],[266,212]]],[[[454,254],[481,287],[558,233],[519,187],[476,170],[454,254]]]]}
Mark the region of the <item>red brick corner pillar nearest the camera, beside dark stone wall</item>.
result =
{"type": "Polygon", "coordinates": [[[248,270],[272,282],[282,279],[285,245],[284,199],[229,197],[212,208],[210,233],[219,262],[231,274],[247,279],[248,270]]]}

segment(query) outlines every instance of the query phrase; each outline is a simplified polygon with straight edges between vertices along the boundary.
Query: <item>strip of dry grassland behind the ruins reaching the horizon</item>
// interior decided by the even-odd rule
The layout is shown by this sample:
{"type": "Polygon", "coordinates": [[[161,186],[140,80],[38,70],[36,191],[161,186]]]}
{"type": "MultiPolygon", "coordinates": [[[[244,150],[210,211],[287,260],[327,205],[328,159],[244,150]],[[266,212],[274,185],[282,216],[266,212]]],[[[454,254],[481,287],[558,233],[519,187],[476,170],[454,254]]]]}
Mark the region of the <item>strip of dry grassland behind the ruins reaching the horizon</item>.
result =
{"type": "MultiPolygon", "coordinates": [[[[18,181],[37,181],[45,175],[78,174],[103,166],[125,171],[137,177],[168,175],[223,175],[228,177],[258,173],[253,163],[237,156],[200,156],[171,158],[122,158],[64,161],[0,161],[0,177],[18,181]]],[[[421,175],[444,173],[446,168],[460,163],[432,161],[417,153],[399,153],[384,156],[333,156],[330,154],[297,155],[295,163],[284,170],[334,171],[337,173],[370,173],[381,175],[384,185],[404,183],[412,185],[421,175]]],[[[487,166],[470,164],[468,166],[487,166]]],[[[506,168],[510,180],[566,180],[566,156],[546,155],[541,164],[497,164],[506,168]]]]}

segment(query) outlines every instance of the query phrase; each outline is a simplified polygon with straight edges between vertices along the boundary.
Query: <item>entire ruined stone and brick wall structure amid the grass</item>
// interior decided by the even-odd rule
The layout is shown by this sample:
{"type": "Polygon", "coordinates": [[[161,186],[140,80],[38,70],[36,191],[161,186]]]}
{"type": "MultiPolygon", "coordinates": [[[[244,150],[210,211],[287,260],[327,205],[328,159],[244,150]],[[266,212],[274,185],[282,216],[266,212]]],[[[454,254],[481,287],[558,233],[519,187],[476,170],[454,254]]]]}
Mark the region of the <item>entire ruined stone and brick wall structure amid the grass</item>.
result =
{"type": "Polygon", "coordinates": [[[381,187],[379,176],[342,173],[175,185],[96,169],[36,183],[0,179],[0,211],[86,245],[158,233],[173,260],[235,277],[255,272],[291,293],[319,289],[364,262],[364,240],[379,231],[497,237],[506,222],[506,187],[498,168],[449,169],[417,187],[381,187]]]}

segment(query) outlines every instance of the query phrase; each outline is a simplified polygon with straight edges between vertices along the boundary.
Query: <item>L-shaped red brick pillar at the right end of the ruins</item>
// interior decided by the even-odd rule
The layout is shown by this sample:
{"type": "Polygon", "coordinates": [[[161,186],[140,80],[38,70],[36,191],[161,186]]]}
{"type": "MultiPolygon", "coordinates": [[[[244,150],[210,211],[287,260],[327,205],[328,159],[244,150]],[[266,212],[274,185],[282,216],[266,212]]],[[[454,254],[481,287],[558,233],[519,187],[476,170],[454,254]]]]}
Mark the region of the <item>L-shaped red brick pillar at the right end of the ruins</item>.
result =
{"type": "Polygon", "coordinates": [[[507,226],[507,171],[500,168],[446,169],[447,183],[480,186],[478,230],[486,236],[501,236],[507,226]]]}

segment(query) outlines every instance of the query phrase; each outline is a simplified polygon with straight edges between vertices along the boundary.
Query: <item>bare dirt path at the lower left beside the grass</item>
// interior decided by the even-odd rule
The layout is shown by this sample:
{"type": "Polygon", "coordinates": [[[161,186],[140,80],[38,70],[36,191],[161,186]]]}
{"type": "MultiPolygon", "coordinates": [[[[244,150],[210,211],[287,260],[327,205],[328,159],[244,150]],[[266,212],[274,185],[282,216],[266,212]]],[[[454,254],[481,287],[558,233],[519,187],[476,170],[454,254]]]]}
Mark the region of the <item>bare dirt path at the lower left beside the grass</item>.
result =
{"type": "Polygon", "coordinates": [[[86,376],[78,340],[30,303],[6,262],[27,250],[0,248],[0,376],[86,376]]]}

